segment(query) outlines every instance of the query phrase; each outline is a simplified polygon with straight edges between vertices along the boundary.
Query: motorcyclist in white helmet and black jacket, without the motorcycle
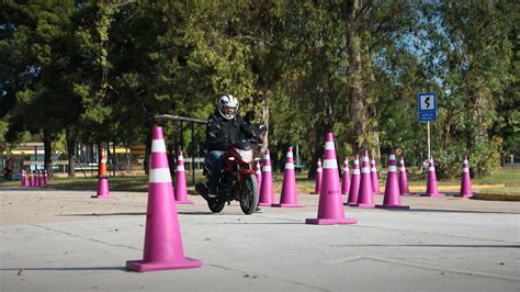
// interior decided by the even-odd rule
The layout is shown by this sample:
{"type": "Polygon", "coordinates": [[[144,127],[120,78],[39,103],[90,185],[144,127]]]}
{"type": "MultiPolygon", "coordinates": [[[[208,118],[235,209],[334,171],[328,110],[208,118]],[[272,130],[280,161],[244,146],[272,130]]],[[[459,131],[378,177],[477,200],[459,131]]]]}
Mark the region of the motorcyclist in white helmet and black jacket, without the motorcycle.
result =
{"type": "Polygon", "coordinates": [[[237,141],[257,137],[249,124],[238,114],[239,103],[231,94],[222,96],[215,112],[210,115],[206,124],[206,150],[204,164],[211,169],[207,182],[207,196],[217,196],[217,186],[221,171],[224,167],[224,153],[237,141]]]}

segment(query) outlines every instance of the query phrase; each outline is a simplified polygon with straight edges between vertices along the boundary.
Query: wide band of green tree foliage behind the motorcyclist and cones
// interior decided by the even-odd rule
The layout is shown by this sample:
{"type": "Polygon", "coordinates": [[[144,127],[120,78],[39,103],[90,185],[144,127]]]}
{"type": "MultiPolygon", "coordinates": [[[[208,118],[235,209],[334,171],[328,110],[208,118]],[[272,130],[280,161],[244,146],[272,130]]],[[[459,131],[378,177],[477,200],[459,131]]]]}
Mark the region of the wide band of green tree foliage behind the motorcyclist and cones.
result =
{"type": "MultiPolygon", "coordinates": [[[[298,145],[314,164],[332,131],[338,157],[363,145],[417,165],[427,137],[416,97],[437,91],[439,177],[456,176],[466,154],[485,175],[520,155],[519,11],[484,0],[2,1],[0,134],[142,144],[157,114],[206,119],[233,93],[268,123],[273,157],[298,145]]],[[[163,125],[179,144],[180,123],[163,125]]],[[[183,127],[190,151],[204,127],[183,127]]]]}

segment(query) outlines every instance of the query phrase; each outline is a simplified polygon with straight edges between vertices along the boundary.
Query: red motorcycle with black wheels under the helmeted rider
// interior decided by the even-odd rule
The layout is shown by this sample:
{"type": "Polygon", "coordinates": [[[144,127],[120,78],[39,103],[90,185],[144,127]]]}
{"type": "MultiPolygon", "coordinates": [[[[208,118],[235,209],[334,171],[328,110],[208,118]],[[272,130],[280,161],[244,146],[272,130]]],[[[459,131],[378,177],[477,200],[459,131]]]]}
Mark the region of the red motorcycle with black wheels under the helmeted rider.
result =
{"type": "MultiPolygon", "coordinates": [[[[257,141],[239,141],[224,153],[224,167],[216,198],[207,196],[207,187],[204,183],[195,186],[196,192],[206,199],[207,206],[213,213],[219,213],[226,203],[229,205],[234,200],[240,202],[240,209],[247,215],[257,209],[259,186],[252,165],[252,144],[257,144],[257,141]]],[[[204,165],[203,175],[210,179],[210,166],[204,165]]]]}

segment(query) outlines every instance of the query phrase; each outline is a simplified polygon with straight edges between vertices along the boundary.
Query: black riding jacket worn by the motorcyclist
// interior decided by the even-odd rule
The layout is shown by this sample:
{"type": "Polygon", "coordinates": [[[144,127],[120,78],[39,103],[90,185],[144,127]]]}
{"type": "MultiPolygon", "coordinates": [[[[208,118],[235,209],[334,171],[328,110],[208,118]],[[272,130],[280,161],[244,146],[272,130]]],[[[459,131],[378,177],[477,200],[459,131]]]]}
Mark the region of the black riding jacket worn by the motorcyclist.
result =
{"type": "Polygon", "coordinates": [[[206,124],[206,149],[207,151],[225,151],[235,142],[252,138],[255,133],[240,115],[226,120],[215,111],[207,119],[206,124]]]}

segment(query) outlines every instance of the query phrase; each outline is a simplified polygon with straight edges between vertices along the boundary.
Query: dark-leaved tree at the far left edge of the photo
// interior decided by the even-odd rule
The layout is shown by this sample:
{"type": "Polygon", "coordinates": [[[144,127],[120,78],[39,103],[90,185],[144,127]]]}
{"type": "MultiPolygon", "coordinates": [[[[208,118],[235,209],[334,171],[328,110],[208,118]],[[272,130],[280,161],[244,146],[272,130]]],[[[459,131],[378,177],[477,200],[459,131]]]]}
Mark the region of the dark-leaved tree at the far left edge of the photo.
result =
{"type": "Polygon", "coordinates": [[[45,168],[52,171],[52,142],[75,115],[69,99],[69,19],[74,1],[41,1],[31,4],[2,3],[4,11],[1,114],[10,121],[8,139],[29,131],[43,133],[45,168]],[[5,69],[5,70],[3,70],[5,69]]]}

